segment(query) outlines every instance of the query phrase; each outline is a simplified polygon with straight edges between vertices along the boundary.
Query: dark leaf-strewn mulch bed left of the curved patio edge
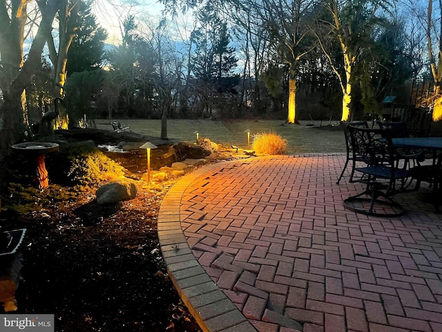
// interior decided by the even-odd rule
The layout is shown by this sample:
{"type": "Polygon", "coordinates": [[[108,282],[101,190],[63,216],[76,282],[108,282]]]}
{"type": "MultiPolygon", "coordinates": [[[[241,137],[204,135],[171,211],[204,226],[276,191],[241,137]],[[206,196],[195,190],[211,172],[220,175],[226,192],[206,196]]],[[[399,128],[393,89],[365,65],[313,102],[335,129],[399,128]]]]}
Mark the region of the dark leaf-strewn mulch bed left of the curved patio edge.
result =
{"type": "MultiPolygon", "coordinates": [[[[157,214],[173,183],[100,206],[90,192],[2,219],[26,228],[14,313],[55,314],[55,331],[201,331],[166,273],[157,214]]],[[[2,308],[3,310],[3,308],[2,308]]]]}

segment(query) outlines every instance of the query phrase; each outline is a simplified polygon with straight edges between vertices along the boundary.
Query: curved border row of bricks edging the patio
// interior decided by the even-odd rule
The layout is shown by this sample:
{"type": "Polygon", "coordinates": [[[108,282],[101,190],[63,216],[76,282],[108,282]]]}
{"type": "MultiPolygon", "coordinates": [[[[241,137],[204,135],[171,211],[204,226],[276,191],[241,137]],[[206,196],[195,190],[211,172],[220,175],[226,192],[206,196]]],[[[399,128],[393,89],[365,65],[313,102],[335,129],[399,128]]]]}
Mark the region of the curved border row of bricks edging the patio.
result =
{"type": "MultiPolygon", "coordinates": [[[[298,154],[294,157],[340,154],[298,154]]],[[[242,161],[251,160],[256,158],[242,161]]],[[[258,332],[200,266],[181,228],[180,205],[186,188],[216,167],[235,162],[238,160],[214,163],[186,174],[166,193],[158,215],[158,239],[167,271],[182,301],[204,332],[258,332]]]]}

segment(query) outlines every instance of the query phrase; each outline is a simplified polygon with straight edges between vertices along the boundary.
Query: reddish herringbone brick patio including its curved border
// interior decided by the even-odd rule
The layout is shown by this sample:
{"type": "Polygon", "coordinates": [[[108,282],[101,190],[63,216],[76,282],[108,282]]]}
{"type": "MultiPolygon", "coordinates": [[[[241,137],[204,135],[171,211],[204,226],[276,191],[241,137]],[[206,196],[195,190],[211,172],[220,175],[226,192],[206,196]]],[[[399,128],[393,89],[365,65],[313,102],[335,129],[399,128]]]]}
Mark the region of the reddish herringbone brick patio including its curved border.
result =
{"type": "Polygon", "coordinates": [[[399,218],[345,210],[363,185],[336,185],[344,161],[218,163],[166,194],[162,252],[204,331],[442,331],[442,214],[425,188],[399,218]]]}

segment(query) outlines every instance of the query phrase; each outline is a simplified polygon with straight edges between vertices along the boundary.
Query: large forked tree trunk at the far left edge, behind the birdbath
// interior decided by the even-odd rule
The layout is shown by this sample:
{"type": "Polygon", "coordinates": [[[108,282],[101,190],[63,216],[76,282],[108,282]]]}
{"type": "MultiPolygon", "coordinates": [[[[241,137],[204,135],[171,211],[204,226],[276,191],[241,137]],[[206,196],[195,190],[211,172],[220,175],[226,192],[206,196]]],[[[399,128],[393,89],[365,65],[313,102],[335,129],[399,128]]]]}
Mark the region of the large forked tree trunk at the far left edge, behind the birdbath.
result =
{"type": "MultiPolygon", "coordinates": [[[[41,53],[46,36],[52,30],[52,21],[59,8],[58,0],[39,2],[40,17],[37,33],[26,59],[23,44],[30,0],[11,0],[0,3],[0,89],[3,104],[0,108],[0,156],[23,132],[23,91],[32,80],[32,74],[41,65],[41,53]]],[[[0,157],[1,158],[1,157],[0,157]]],[[[0,160],[1,161],[1,160],[0,160]]]]}

